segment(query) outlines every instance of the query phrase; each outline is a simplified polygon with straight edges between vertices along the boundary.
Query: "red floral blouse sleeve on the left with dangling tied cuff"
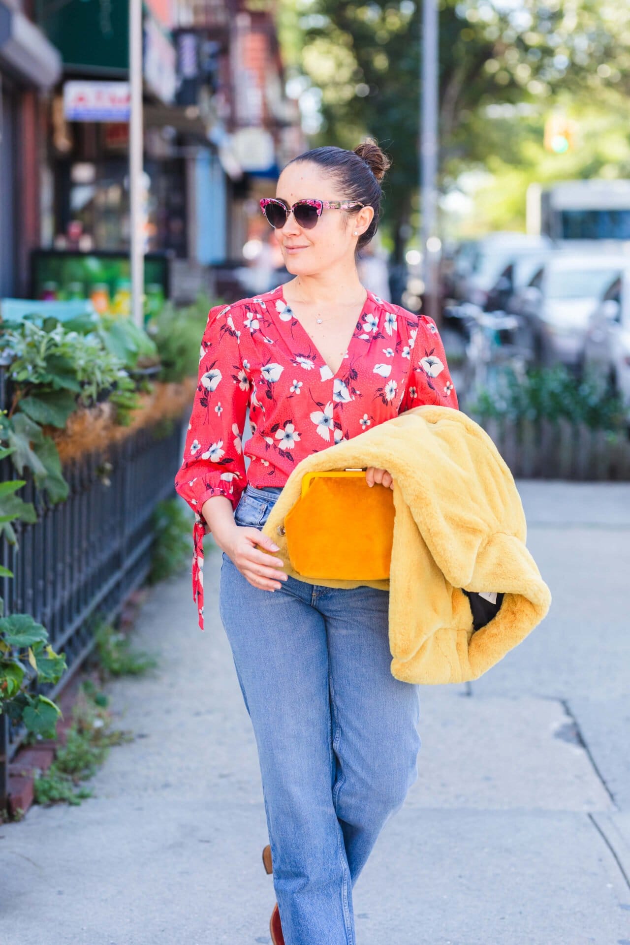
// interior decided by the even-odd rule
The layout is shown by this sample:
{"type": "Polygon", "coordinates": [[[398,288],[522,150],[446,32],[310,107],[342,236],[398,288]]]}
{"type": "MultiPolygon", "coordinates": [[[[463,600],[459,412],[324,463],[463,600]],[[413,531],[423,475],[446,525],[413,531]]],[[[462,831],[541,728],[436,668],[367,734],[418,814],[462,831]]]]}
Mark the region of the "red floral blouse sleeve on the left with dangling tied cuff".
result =
{"type": "Polygon", "coordinates": [[[236,509],[247,486],[241,438],[245,429],[249,378],[243,367],[235,307],[216,305],[201,340],[195,400],[175,490],[195,512],[193,598],[203,629],[203,536],[210,527],[201,509],[213,495],[225,495],[236,509]]]}

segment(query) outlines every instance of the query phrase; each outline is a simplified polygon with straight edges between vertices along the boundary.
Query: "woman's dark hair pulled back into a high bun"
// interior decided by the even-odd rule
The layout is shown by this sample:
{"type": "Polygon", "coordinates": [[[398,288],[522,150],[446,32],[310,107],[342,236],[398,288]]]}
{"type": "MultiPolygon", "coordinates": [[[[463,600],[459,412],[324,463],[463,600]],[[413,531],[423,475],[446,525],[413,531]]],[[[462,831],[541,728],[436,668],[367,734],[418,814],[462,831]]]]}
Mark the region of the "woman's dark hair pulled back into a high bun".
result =
{"type": "MultiPolygon", "coordinates": [[[[391,161],[374,138],[367,138],[353,151],[332,145],[314,147],[310,151],[299,154],[297,158],[293,158],[285,164],[285,167],[298,161],[308,161],[329,171],[342,190],[344,199],[358,200],[365,206],[374,208],[371,223],[366,232],[359,236],[356,248],[358,251],[367,246],[379,226],[383,198],[381,181],[385,171],[391,165],[391,161]]],[[[357,207],[356,210],[344,210],[341,213],[352,215],[357,214],[359,210],[361,207],[357,207]]]]}

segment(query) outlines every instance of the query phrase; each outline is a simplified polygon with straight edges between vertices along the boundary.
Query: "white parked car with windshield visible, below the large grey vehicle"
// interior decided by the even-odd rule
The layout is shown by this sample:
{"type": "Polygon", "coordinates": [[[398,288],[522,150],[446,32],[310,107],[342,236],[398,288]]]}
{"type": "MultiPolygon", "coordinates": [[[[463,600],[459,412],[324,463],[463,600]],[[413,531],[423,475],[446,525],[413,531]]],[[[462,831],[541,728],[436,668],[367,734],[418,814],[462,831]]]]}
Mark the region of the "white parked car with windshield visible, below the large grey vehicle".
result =
{"type": "Polygon", "coordinates": [[[582,369],[588,319],[626,266],[622,254],[579,249],[549,254],[507,306],[526,325],[536,366],[560,362],[582,369]]]}

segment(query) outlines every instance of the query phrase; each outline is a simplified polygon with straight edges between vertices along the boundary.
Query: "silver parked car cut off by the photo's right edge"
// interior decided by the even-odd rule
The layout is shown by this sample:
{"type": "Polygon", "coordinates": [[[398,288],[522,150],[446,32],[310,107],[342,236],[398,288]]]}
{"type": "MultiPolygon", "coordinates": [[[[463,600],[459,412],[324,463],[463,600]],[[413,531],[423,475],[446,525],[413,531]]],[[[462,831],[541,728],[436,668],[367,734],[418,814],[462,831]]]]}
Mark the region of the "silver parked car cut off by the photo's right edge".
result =
{"type": "Polygon", "coordinates": [[[584,366],[602,377],[612,394],[619,394],[630,413],[630,265],[610,283],[591,314],[584,366]]]}

